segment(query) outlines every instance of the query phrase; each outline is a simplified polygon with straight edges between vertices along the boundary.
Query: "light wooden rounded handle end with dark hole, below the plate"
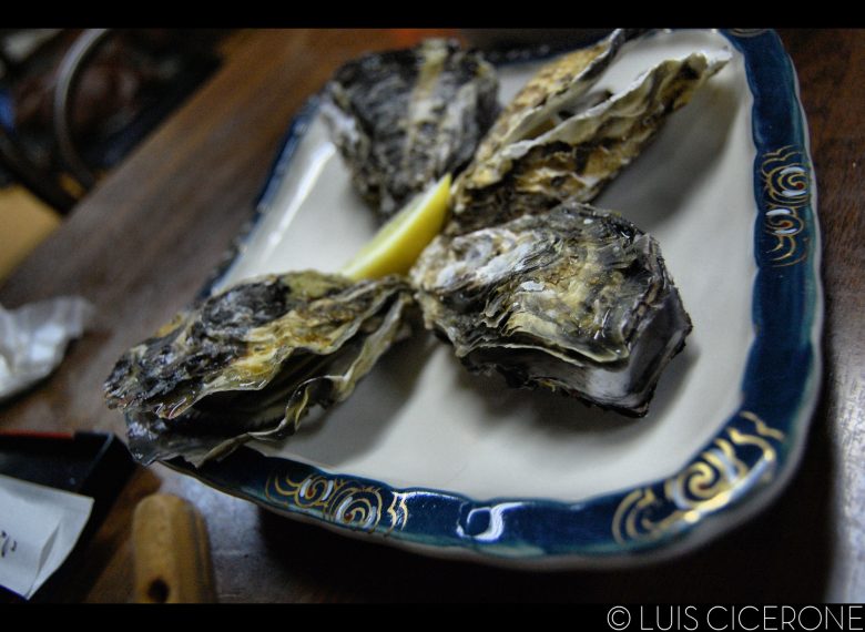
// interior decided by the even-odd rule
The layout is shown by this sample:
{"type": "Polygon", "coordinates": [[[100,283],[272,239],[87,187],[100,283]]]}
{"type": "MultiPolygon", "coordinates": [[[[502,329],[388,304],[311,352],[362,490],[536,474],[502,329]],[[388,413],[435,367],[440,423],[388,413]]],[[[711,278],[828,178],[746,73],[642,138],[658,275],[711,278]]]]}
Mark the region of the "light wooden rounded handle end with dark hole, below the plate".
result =
{"type": "Polygon", "coordinates": [[[207,528],[185,500],[149,496],[132,521],[138,603],[213,603],[207,528]]]}

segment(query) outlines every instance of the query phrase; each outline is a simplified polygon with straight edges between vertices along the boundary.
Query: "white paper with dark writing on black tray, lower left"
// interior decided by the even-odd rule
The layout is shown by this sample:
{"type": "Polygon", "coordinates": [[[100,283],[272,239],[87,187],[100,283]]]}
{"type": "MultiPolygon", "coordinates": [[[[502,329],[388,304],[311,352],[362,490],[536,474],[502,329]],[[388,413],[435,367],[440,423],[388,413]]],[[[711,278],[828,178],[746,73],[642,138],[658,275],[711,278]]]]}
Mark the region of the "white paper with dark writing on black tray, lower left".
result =
{"type": "Polygon", "coordinates": [[[72,552],[93,499],[0,475],[0,585],[30,599],[72,552]]]}

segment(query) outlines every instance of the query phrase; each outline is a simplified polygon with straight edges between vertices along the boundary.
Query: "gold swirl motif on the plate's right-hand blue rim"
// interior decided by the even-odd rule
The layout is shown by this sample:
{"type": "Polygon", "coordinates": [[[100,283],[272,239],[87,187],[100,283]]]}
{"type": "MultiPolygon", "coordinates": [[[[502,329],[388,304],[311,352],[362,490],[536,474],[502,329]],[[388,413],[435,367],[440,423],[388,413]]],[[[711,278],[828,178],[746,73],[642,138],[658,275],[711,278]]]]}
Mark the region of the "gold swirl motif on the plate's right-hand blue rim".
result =
{"type": "Polygon", "coordinates": [[[808,235],[798,211],[811,202],[811,169],[802,150],[788,145],[763,156],[760,170],[766,203],[764,227],[775,241],[773,267],[807,258],[808,235]]]}

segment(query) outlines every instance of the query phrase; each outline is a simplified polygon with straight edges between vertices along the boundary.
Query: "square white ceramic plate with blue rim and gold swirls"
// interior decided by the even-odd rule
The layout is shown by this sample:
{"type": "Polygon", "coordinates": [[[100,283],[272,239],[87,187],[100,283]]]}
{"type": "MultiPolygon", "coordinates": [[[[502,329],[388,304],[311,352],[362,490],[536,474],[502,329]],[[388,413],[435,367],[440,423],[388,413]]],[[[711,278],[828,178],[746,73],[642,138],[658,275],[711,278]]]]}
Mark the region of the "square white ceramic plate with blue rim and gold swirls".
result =
{"type": "MultiPolygon", "coordinates": [[[[174,467],[342,533],[530,568],[666,557],[764,507],[800,460],[821,376],[815,180],[772,31],[651,33],[601,83],[694,49],[732,61],[594,202],[658,238],[694,323],[644,419],[507,389],[420,336],[284,444],[174,467]]],[[[502,101],[538,64],[502,64],[502,101]]],[[[312,100],[214,287],[336,271],[375,230],[312,100]]]]}

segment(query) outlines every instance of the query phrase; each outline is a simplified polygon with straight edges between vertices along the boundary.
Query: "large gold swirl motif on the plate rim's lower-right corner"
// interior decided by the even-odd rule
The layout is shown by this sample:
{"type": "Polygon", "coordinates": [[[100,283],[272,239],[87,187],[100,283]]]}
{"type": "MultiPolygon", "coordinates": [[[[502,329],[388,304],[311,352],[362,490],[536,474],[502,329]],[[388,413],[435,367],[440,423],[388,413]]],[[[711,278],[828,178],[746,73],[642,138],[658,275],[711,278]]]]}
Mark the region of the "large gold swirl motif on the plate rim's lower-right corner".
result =
{"type": "Polygon", "coordinates": [[[772,480],[777,467],[773,442],[784,434],[747,410],[739,419],[747,422],[745,428],[729,425],[693,462],[664,480],[662,490],[644,487],[625,496],[613,516],[615,541],[657,540],[725,507],[740,489],[772,480]],[[754,450],[756,459],[744,453],[754,450]]]}

